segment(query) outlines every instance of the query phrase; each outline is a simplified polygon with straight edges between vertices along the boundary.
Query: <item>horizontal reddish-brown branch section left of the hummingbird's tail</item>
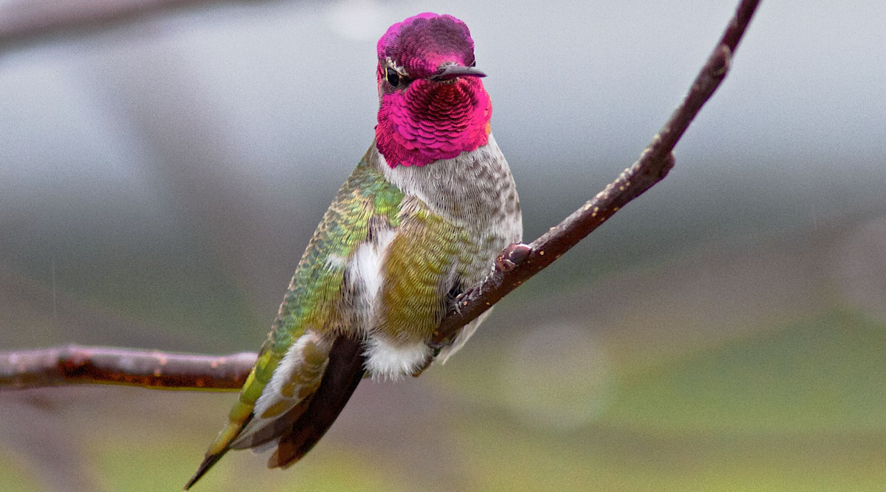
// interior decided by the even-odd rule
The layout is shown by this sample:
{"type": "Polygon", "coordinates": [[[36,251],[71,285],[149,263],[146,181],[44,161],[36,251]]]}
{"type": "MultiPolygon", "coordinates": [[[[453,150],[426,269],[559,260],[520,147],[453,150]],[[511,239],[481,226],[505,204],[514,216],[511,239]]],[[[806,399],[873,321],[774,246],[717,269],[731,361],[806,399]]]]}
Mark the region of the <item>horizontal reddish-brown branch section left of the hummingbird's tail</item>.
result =
{"type": "Polygon", "coordinates": [[[255,354],[177,354],[65,345],[0,352],[0,388],[108,383],[157,389],[238,389],[255,354]]]}

